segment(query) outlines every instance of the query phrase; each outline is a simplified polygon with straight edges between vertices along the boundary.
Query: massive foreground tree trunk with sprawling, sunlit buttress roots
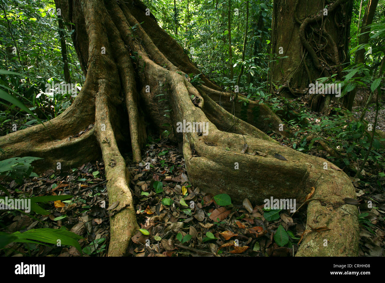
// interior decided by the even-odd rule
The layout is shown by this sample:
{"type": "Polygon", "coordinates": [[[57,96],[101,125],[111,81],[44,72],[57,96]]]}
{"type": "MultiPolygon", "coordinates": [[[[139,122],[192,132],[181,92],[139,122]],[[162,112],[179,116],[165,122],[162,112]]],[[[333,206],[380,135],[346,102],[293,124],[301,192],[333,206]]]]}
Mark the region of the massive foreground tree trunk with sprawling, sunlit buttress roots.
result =
{"type": "Polygon", "coordinates": [[[355,198],[350,179],[325,159],[280,146],[267,136],[263,131],[278,131],[282,123],[268,107],[255,102],[245,105],[239,95],[238,117],[234,117],[226,111],[233,105],[233,94],[221,92],[205,77],[204,85],[191,85],[184,74],[199,74],[199,70],[137,0],[73,0],[69,7],[67,0],[55,2],[65,21],[75,24],[74,46],[87,74],[85,84],[71,107],[45,127],[1,137],[0,147],[5,151],[1,158],[44,157],[40,169],[52,169],[57,162],[66,169],[95,160],[101,152],[110,203],[119,201],[117,209],[129,204],[111,217],[110,256],[122,255],[138,229],[121,153],[131,141],[134,161],[141,160],[144,119],[159,133],[170,130],[169,137],[183,143],[189,180],[205,191],[228,193],[233,200],[249,198],[253,203],[263,203],[270,196],[296,198],[299,203],[315,187],[313,198],[321,201],[309,203],[307,223],[330,230],[307,233],[297,255],[357,255],[357,208],[343,202],[345,197],[355,198]],[[136,29],[131,28],[134,25],[136,29]],[[148,87],[150,92],[146,92],[148,87]],[[157,102],[156,95],[161,93],[167,100],[157,102]],[[192,95],[198,97],[198,105],[193,104],[192,95]],[[164,107],[171,110],[170,118],[159,111],[164,107]],[[207,122],[208,135],[177,132],[176,123],[183,120],[207,122]],[[171,128],[162,126],[167,122],[171,128]],[[90,131],[68,138],[93,123],[90,131]],[[246,138],[248,152],[261,151],[266,156],[242,154],[244,142],[239,133],[246,138]],[[276,159],[275,153],[287,160],[276,159]],[[328,170],[323,169],[324,162],[328,170]]]}

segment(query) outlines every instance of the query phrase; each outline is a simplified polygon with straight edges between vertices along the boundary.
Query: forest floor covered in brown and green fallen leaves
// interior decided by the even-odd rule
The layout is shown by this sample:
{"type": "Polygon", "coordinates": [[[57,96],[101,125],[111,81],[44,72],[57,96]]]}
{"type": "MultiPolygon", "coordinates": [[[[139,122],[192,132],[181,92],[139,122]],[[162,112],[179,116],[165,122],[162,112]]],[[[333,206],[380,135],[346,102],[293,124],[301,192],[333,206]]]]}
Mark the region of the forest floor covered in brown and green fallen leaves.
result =
{"type": "MultiPolygon", "coordinates": [[[[319,154],[326,156],[326,152],[319,154]]],[[[129,162],[128,157],[126,160],[129,162]]],[[[168,140],[149,142],[143,161],[139,165],[127,163],[137,221],[142,229],[132,237],[126,256],[292,256],[305,233],[316,233],[305,231],[305,207],[291,217],[289,210],[264,211],[263,203],[250,203],[248,199],[219,206],[212,194],[189,185],[182,153],[168,140]],[[157,181],[161,181],[161,188],[157,181]],[[279,227],[287,231],[288,242],[284,246],[275,236],[282,234],[279,227]]],[[[367,178],[372,178],[368,172],[367,178]]],[[[360,221],[359,253],[383,256],[385,193],[378,192],[370,182],[354,178],[352,181],[358,200],[373,201],[372,209],[360,206],[365,218],[360,221]]],[[[373,181],[384,184],[385,178],[373,181]]],[[[23,193],[75,197],[71,201],[50,202],[45,209],[51,214],[36,215],[38,219],[18,211],[4,211],[0,214],[1,231],[64,226],[84,237],[79,241],[84,256],[106,255],[109,211],[117,204],[108,203],[103,162],[84,164],[65,174],[49,170],[22,186],[11,182],[8,190],[14,197],[23,193]]],[[[74,247],[54,244],[11,243],[7,248],[0,255],[80,256],[74,247]]]]}

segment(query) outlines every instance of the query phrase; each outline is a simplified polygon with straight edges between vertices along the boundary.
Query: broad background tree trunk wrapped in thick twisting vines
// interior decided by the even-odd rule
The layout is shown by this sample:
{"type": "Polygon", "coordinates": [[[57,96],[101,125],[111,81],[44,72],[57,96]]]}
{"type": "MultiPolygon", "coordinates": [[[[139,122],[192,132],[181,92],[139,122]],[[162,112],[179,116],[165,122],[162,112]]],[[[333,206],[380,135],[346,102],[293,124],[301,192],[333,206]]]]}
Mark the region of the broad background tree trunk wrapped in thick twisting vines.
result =
{"type": "MultiPolygon", "coordinates": [[[[281,95],[289,98],[308,95],[309,84],[316,79],[333,74],[342,78],[342,69],[350,61],[352,3],[352,0],[330,4],[323,0],[275,0],[271,52],[288,58],[271,62],[270,77],[282,86],[281,95]]],[[[311,94],[308,104],[314,111],[328,114],[328,106],[335,99],[335,95],[311,94]]]]}

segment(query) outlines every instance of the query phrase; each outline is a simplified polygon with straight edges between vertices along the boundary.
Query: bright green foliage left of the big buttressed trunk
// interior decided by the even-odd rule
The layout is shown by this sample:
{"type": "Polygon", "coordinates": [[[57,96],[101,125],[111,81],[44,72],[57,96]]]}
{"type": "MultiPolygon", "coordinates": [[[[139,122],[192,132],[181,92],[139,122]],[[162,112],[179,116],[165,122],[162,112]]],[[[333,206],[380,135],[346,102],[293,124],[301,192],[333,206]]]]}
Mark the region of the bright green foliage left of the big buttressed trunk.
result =
{"type": "MultiPolygon", "coordinates": [[[[45,86],[50,79],[58,84],[64,80],[55,4],[45,0],[19,0],[17,5],[2,1],[0,7],[3,51],[0,52],[0,69],[7,70],[0,72],[0,98],[9,102],[2,102],[8,108],[0,110],[0,125],[9,127],[15,123],[17,129],[23,129],[40,122],[40,119],[56,117],[72,103],[73,98],[64,92],[47,92],[45,86]],[[19,113],[18,109],[27,114],[19,113]],[[33,114],[34,109],[40,112],[33,114]]],[[[71,81],[77,81],[80,87],[84,77],[80,75],[80,64],[70,43],[74,30],[60,31],[66,39],[71,81]]]]}

